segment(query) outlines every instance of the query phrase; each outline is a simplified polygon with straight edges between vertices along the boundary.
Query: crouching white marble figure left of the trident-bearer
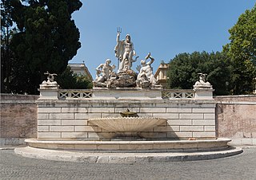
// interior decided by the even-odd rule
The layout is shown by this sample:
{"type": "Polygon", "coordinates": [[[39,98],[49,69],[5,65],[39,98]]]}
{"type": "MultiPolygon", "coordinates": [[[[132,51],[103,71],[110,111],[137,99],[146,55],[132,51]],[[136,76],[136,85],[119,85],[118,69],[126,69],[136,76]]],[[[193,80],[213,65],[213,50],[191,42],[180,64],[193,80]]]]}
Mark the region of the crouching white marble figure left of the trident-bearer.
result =
{"type": "Polygon", "coordinates": [[[95,83],[104,83],[113,78],[113,76],[116,76],[114,72],[115,65],[110,65],[110,63],[110,59],[107,59],[104,64],[98,65],[95,83]]]}

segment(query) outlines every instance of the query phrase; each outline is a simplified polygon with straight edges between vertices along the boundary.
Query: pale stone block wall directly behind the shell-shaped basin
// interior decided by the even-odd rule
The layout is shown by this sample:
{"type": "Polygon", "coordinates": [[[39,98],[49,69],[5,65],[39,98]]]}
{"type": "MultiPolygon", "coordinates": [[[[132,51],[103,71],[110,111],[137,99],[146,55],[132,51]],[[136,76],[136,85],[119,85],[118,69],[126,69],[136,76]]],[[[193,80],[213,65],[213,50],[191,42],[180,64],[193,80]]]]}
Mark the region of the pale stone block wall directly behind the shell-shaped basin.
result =
{"type": "Polygon", "coordinates": [[[88,119],[140,117],[167,119],[166,124],[140,132],[148,139],[215,139],[213,100],[38,100],[38,139],[109,139],[107,132],[88,119]]]}

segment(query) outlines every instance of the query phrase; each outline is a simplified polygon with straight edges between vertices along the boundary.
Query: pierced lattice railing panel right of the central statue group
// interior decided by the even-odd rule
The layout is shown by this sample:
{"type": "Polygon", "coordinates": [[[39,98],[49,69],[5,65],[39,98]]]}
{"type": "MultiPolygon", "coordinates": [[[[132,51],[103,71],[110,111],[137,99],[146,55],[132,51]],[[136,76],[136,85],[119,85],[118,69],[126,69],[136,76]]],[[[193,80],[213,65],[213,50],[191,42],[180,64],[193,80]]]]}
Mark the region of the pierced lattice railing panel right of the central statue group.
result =
{"type": "Polygon", "coordinates": [[[165,89],[162,90],[162,99],[192,99],[193,89],[165,89]]]}

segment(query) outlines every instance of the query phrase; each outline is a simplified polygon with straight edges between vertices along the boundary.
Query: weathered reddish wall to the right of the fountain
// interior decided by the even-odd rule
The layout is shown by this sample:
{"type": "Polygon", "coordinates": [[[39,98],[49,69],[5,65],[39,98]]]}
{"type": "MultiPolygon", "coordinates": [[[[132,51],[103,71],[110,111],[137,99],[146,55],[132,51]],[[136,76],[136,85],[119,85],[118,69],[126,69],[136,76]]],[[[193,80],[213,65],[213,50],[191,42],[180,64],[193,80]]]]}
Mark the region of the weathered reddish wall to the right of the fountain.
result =
{"type": "Polygon", "coordinates": [[[217,96],[218,137],[256,146],[256,96],[217,96]]]}

